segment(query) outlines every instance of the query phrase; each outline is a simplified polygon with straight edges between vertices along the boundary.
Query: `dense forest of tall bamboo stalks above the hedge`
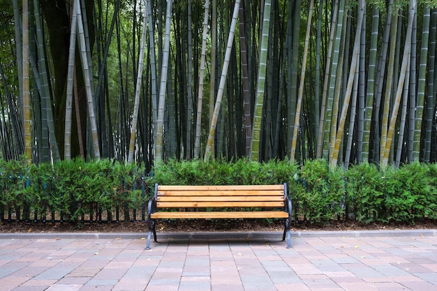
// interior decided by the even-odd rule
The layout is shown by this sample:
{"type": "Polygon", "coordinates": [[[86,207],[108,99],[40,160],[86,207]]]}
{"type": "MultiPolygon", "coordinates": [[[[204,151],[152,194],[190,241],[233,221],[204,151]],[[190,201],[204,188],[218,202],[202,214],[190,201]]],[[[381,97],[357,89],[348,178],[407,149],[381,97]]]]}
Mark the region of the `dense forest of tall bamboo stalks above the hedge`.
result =
{"type": "Polygon", "coordinates": [[[435,0],[0,0],[0,149],[437,159],[435,0]]]}

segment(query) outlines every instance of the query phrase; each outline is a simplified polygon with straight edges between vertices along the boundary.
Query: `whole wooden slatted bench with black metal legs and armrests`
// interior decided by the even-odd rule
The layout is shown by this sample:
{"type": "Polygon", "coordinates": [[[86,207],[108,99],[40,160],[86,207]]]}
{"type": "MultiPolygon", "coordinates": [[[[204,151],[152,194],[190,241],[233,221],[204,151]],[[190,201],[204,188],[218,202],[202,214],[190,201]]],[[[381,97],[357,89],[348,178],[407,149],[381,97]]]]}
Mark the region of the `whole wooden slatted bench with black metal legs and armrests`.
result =
{"type": "Polygon", "coordinates": [[[251,186],[163,186],[155,185],[149,200],[147,221],[150,249],[151,234],[156,240],[155,223],[158,219],[188,218],[283,218],[282,240],[291,247],[291,200],[287,184],[251,186]]]}

